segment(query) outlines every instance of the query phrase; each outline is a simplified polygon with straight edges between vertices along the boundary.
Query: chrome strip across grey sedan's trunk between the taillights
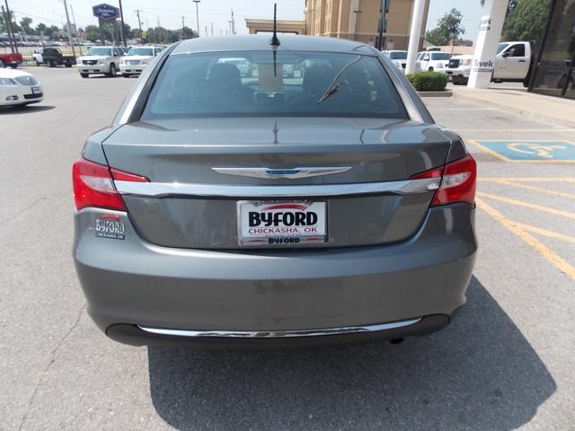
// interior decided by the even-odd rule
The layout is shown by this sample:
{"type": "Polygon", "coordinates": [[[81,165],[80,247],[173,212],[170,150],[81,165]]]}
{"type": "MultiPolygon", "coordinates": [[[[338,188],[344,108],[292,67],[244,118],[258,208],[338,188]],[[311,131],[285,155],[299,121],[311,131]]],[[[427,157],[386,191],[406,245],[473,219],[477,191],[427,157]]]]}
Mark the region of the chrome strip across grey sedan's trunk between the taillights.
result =
{"type": "Polygon", "coordinates": [[[408,195],[438,189],[441,178],[350,184],[319,184],[305,186],[224,186],[214,184],[183,184],[179,182],[114,181],[122,195],[161,198],[169,195],[190,195],[210,198],[307,198],[393,193],[408,195]]]}

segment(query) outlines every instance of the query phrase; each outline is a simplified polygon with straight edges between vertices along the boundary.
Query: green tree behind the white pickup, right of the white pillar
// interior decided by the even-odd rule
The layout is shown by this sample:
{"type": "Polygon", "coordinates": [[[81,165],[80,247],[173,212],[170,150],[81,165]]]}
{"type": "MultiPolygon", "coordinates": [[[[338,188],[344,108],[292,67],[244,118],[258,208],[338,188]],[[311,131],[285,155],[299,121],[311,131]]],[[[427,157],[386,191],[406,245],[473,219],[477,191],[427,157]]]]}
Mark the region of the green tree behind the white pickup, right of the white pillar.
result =
{"type": "Polygon", "coordinates": [[[549,0],[517,0],[503,23],[502,40],[538,41],[549,13],[549,0]]]}

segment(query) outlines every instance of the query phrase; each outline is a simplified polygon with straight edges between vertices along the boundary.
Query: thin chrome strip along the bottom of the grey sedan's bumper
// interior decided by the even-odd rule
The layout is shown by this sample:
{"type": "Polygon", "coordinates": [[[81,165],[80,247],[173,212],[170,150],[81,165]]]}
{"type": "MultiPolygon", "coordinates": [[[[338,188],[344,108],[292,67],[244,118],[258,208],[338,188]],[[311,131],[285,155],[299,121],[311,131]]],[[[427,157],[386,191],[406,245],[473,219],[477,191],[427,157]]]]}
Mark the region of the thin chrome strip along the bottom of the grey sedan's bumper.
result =
{"type": "Polygon", "coordinates": [[[346,328],[325,328],[319,330],[279,330],[279,331],[251,331],[251,330],[166,330],[162,328],[148,328],[138,326],[153,334],[174,335],[178,337],[210,337],[210,338],[238,338],[238,339],[283,339],[291,337],[317,337],[321,335],[353,334],[360,332],[375,332],[378,330],[393,330],[403,328],[420,321],[393,321],[391,323],[379,323],[376,325],[350,326],[346,328]]]}

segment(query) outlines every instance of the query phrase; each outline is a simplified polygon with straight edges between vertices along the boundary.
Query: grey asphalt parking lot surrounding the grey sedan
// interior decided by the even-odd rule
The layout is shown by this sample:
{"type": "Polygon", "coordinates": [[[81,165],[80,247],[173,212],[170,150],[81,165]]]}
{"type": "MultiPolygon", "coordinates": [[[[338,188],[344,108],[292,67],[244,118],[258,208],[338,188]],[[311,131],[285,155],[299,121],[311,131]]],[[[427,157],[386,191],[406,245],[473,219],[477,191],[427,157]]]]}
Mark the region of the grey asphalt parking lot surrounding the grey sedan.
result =
{"type": "Polygon", "coordinates": [[[0,110],[0,429],[575,429],[574,129],[426,99],[480,176],[481,250],[446,330],[298,351],[136,348],[85,313],[70,181],[135,80],[29,70],[44,101],[0,110]]]}

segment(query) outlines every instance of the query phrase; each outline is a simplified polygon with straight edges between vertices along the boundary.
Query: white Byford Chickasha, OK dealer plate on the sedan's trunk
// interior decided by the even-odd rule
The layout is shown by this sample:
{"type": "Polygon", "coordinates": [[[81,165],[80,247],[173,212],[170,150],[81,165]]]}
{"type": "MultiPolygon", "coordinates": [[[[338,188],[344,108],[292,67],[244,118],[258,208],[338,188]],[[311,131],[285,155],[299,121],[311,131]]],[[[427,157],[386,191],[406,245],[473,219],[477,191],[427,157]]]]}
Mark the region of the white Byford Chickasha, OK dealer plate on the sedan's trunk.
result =
{"type": "Polygon", "coordinates": [[[325,242],[325,202],[242,200],[237,203],[240,245],[325,242]]]}

